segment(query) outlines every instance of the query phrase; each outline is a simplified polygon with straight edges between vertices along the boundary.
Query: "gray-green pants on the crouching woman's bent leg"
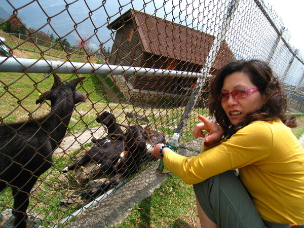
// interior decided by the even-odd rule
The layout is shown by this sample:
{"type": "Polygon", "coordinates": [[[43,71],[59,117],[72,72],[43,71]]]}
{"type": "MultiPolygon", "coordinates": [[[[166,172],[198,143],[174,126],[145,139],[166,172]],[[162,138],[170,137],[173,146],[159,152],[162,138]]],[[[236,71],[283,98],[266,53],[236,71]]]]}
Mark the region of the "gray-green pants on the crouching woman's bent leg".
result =
{"type": "Polygon", "coordinates": [[[246,188],[233,171],[194,184],[193,188],[203,211],[219,228],[279,228],[291,225],[263,221],[246,188]]]}

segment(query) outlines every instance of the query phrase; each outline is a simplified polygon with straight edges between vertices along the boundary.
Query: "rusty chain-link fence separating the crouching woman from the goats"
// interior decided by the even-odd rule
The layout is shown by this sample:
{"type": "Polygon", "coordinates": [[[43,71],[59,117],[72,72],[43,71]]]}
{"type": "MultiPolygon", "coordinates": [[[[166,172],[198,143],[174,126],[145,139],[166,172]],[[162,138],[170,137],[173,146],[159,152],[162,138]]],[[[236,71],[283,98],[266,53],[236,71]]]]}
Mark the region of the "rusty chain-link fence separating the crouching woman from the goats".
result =
{"type": "Polygon", "coordinates": [[[262,1],[3,2],[1,226],[25,211],[66,224],[155,162],[153,144],[192,141],[210,77],[234,59],[269,62],[303,111],[303,60],[262,1]]]}

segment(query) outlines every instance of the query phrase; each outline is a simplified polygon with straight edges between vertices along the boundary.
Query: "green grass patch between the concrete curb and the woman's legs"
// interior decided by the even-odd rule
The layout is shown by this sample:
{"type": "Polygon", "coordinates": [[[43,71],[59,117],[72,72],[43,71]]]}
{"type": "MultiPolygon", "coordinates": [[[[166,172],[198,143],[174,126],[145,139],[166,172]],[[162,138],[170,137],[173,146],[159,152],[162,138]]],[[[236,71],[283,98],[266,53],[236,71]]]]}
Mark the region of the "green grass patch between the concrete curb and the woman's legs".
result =
{"type": "Polygon", "coordinates": [[[175,175],[154,194],[135,206],[132,213],[120,225],[111,227],[194,227],[198,222],[195,194],[192,185],[186,185],[175,175]]]}

